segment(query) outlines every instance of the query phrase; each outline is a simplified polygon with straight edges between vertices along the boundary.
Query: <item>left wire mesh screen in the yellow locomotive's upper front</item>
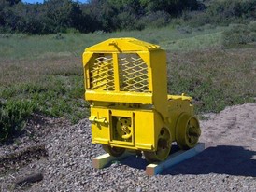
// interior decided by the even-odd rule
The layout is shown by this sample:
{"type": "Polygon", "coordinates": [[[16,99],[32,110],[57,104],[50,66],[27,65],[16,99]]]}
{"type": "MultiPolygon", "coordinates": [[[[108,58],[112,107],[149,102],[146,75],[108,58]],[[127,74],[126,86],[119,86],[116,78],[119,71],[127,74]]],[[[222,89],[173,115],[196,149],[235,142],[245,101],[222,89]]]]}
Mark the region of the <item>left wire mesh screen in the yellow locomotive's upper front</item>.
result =
{"type": "Polygon", "coordinates": [[[114,90],[114,70],[111,56],[98,57],[90,66],[90,89],[114,90]]]}

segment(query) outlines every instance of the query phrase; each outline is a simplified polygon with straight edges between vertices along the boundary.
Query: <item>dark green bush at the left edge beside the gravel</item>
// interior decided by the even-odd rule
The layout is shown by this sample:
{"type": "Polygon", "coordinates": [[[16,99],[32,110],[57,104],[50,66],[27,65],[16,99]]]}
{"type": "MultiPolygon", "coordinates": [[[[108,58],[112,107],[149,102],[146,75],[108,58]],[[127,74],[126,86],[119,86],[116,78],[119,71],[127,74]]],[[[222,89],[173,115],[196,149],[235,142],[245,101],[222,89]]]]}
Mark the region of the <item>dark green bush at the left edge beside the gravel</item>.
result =
{"type": "Polygon", "coordinates": [[[7,141],[15,134],[21,133],[25,120],[36,109],[35,103],[22,100],[0,102],[0,142],[7,141]]]}

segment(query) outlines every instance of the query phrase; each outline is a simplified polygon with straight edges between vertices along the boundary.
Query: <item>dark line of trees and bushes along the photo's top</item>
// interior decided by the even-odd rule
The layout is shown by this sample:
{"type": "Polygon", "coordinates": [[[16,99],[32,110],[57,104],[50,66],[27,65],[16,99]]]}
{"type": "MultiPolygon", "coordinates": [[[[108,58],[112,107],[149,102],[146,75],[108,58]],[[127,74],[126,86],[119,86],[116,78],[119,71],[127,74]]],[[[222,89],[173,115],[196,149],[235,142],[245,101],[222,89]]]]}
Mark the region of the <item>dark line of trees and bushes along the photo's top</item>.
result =
{"type": "Polygon", "coordinates": [[[184,15],[187,19],[196,18],[197,23],[203,22],[200,24],[217,21],[218,17],[220,22],[225,16],[223,13],[231,18],[256,18],[256,0],[90,0],[84,4],[72,0],[45,0],[43,4],[25,4],[21,0],[0,2],[2,34],[142,30],[164,26],[184,15]],[[193,13],[197,13],[197,17],[193,13]]]}

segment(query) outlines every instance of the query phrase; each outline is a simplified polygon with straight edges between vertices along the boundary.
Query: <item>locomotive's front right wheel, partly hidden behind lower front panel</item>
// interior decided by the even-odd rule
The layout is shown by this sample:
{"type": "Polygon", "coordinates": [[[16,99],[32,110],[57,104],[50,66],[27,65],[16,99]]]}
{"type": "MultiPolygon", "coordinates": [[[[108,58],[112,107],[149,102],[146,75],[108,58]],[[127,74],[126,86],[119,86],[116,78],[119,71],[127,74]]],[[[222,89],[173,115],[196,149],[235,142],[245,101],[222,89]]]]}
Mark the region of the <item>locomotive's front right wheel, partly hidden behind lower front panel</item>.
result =
{"type": "Polygon", "coordinates": [[[144,151],[144,156],[149,162],[163,161],[170,154],[172,147],[171,134],[169,130],[163,128],[160,131],[157,141],[156,151],[144,151]]]}

